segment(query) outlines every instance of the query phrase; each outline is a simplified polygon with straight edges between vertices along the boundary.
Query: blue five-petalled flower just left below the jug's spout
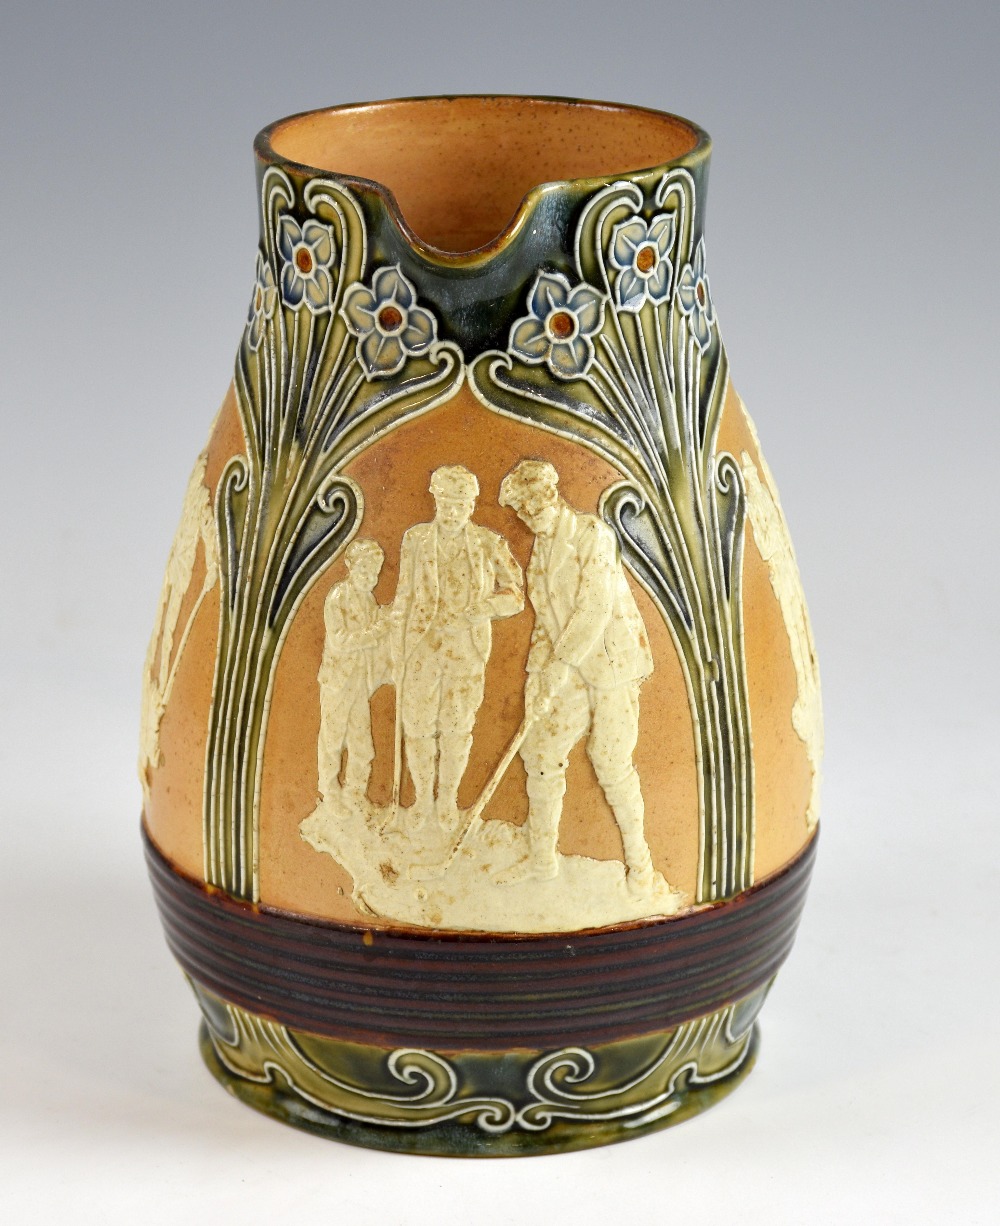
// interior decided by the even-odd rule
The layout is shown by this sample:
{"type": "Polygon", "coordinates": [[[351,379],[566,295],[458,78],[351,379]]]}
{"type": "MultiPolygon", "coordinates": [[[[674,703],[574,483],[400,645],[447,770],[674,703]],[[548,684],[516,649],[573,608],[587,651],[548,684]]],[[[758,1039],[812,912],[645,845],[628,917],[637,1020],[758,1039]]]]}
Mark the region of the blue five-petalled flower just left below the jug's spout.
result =
{"type": "Polygon", "coordinates": [[[341,314],[358,337],[358,360],[369,379],[395,375],[438,340],[438,321],[417,305],[417,291],[398,265],[379,268],[370,287],[350,286],[341,314]]]}

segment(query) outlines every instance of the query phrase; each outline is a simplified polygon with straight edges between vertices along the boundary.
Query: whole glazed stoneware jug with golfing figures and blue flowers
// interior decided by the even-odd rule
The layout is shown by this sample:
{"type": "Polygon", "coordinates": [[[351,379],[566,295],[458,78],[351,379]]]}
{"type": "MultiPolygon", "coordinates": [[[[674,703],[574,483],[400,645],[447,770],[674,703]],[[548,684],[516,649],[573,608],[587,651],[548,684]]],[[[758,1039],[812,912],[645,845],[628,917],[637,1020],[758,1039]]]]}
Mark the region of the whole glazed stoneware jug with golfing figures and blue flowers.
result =
{"type": "Polygon", "coordinates": [[[754,1062],[822,738],[710,288],[708,137],[460,97],[255,152],[250,306],[145,667],[203,1058],[388,1149],[680,1121],[754,1062]]]}

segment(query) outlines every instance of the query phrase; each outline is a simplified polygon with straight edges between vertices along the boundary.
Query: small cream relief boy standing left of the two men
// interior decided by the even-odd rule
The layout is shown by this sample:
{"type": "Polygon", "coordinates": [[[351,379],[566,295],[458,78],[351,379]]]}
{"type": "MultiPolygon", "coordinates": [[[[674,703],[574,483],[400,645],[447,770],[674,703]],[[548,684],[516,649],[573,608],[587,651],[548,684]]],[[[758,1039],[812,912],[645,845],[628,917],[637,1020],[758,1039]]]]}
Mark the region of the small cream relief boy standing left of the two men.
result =
{"type": "Polygon", "coordinates": [[[373,596],[385,554],[376,541],[353,541],[344,560],[347,579],[331,588],[324,604],[319,781],[325,801],[343,813],[366,814],[375,759],[370,701],[388,680],[390,623],[373,596]]]}

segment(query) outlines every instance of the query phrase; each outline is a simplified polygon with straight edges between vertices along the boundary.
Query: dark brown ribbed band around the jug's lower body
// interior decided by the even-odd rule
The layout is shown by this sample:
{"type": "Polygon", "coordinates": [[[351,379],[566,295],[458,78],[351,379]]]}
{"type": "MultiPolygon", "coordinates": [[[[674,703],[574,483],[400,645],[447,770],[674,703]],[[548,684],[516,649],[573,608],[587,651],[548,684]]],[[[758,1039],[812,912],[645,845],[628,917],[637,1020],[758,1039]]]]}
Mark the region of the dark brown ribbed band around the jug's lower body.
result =
{"type": "Polygon", "coordinates": [[[199,983],[295,1030],[498,1051],[669,1030],[749,996],[788,956],[816,839],[728,902],[556,935],[363,928],[241,902],[183,875],[143,830],[167,940],[199,983]]]}

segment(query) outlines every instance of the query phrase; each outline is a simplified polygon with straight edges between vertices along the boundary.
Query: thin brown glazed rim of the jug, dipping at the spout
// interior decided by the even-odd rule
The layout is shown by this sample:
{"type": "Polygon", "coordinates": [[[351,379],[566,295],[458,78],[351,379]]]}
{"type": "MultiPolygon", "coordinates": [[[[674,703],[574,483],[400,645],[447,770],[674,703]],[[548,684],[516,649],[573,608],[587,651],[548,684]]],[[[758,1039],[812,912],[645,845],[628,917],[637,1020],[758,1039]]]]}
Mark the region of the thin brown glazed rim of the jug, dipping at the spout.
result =
{"type": "Polygon", "coordinates": [[[575,98],[560,94],[509,94],[509,93],[450,93],[450,94],[415,94],[398,98],[377,98],[370,102],[352,102],[335,107],[317,107],[310,110],[295,112],[284,115],[262,128],[254,139],[254,154],[262,167],[275,167],[300,179],[332,179],[344,186],[360,190],[370,197],[377,199],[390,222],[400,232],[404,242],[420,256],[431,264],[449,267],[474,267],[485,264],[501,250],[504,250],[529,223],[539,204],[548,196],[575,194],[588,195],[600,190],[612,183],[623,180],[635,181],[640,179],[663,175],[668,170],[684,167],[688,169],[708,162],[712,152],[712,139],[703,128],[683,115],[676,115],[668,110],[659,110],[653,107],[641,107],[625,102],[604,102],[593,98],[575,98]],[[549,179],[534,184],[521,197],[510,221],[488,243],[467,251],[449,251],[423,239],[407,222],[395,192],[385,183],[377,179],[369,179],[363,175],[350,174],[332,169],[331,167],[314,166],[308,162],[299,162],[275,148],[275,137],[289,124],[303,119],[312,119],[320,115],[331,114],[360,114],[364,112],[375,113],[384,108],[398,104],[412,103],[450,103],[450,102],[480,102],[480,103],[556,103],[561,105],[586,107],[593,110],[618,112],[623,116],[646,116],[674,128],[680,128],[691,137],[691,146],[676,157],[663,162],[654,162],[648,166],[623,167],[620,170],[598,175],[583,175],[569,179],[549,179]]]}

